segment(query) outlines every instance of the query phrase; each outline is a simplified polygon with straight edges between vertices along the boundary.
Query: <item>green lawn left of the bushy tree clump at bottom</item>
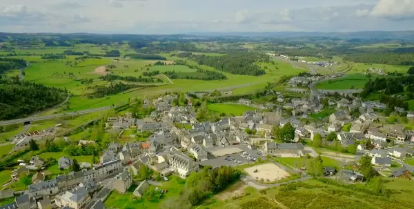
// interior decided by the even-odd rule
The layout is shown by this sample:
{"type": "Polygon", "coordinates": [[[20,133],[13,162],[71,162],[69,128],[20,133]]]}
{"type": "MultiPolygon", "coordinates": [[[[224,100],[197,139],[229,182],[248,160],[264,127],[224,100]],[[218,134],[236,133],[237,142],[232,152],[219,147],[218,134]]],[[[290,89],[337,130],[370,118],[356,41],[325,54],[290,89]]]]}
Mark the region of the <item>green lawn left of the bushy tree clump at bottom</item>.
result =
{"type": "MultiPolygon", "coordinates": [[[[108,199],[105,201],[105,205],[108,208],[118,208],[118,209],[129,209],[129,208],[159,208],[160,204],[170,197],[179,196],[181,187],[184,186],[185,181],[179,179],[179,177],[168,177],[170,180],[163,183],[162,186],[158,188],[168,190],[164,194],[164,197],[159,199],[159,201],[148,201],[146,199],[139,199],[132,195],[132,192],[137,188],[137,186],[131,186],[131,188],[126,192],[126,194],[119,194],[117,191],[113,191],[108,199]]],[[[153,186],[151,186],[153,187],[153,186]]]]}

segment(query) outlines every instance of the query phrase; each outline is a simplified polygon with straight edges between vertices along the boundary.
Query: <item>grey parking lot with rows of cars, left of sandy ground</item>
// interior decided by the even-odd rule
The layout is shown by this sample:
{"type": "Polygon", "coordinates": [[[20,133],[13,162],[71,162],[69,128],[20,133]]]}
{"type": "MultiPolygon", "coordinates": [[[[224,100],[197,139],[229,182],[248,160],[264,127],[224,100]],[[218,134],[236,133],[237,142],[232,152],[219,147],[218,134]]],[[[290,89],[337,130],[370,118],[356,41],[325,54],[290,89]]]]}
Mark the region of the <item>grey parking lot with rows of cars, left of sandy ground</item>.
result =
{"type": "MultiPolygon", "coordinates": [[[[257,155],[257,152],[259,152],[259,150],[250,150],[245,145],[237,145],[237,148],[239,148],[240,150],[242,150],[242,152],[247,152],[253,158],[266,159],[266,157],[264,157],[262,155],[257,155]]],[[[208,159],[206,161],[199,161],[198,163],[201,166],[213,166],[213,168],[217,168],[217,167],[220,167],[220,166],[233,166],[234,167],[234,166],[239,166],[239,165],[243,165],[243,164],[246,164],[246,163],[254,163],[253,161],[250,161],[247,158],[244,158],[244,157],[240,156],[240,155],[242,155],[242,152],[238,152],[238,153],[231,154],[231,155],[217,157],[217,158],[214,158],[214,159],[208,159]],[[226,160],[226,157],[228,157],[228,156],[230,156],[233,160],[227,161],[226,160]],[[241,161],[242,163],[238,163],[238,161],[241,161]]]]}

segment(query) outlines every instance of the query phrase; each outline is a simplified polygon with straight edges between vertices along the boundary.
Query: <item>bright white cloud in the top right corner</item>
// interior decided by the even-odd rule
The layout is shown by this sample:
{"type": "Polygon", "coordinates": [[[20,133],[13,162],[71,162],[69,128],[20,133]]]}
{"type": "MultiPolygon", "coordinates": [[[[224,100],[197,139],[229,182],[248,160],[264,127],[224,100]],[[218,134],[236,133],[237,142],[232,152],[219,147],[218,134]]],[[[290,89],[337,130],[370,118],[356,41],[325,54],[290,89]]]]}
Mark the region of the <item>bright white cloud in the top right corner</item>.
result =
{"type": "Polygon", "coordinates": [[[414,0],[380,0],[371,11],[373,17],[414,18],[414,0]]]}

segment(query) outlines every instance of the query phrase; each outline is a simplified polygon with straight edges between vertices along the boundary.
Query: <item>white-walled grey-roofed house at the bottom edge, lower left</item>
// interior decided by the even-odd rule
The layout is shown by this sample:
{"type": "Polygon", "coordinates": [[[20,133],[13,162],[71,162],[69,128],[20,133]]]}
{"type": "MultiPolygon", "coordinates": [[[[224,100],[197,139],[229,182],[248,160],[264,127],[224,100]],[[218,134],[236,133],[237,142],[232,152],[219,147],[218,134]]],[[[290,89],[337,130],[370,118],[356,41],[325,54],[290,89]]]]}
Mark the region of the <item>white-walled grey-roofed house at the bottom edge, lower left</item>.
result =
{"type": "Polygon", "coordinates": [[[59,207],[81,209],[90,201],[89,192],[85,187],[79,187],[73,191],[66,191],[63,195],[56,195],[55,203],[59,207]]]}

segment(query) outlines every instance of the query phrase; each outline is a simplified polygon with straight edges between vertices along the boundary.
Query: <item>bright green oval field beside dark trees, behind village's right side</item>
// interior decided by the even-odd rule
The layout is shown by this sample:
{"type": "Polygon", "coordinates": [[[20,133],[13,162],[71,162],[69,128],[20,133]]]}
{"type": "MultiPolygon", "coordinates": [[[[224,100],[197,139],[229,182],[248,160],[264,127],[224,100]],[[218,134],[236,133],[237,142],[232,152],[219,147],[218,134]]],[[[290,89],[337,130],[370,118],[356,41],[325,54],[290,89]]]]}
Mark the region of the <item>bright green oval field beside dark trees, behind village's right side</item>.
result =
{"type": "Polygon", "coordinates": [[[351,74],[347,77],[332,79],[327,81],[322,81],[317,83],[315,88],[317,89],[326,89],[326,90],[337,90],[337,89],[359,89],[364,88],[368,77],[363,74],[351,74]]]}

